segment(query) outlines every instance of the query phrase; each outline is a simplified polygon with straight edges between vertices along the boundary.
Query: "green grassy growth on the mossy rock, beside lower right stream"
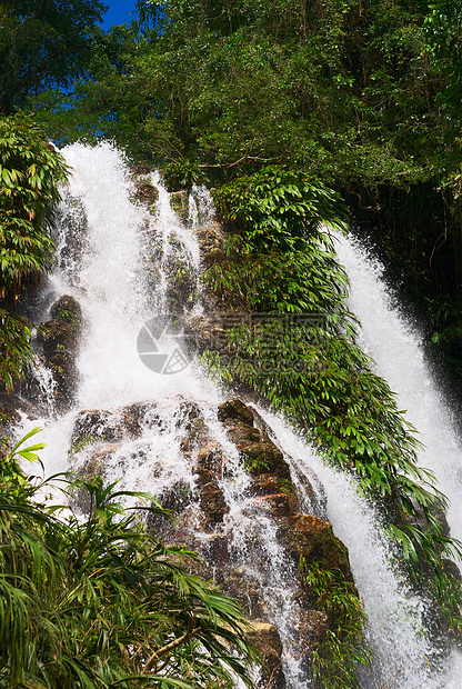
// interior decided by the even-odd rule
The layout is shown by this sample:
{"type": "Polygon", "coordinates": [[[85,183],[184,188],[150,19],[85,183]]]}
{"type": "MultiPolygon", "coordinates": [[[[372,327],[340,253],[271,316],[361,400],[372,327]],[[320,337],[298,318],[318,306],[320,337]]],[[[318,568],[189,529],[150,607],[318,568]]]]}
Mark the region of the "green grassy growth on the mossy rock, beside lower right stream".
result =
{"type": "Polygon", "coordinates": [[[315,610],[328,615],[328,630],[313,651],[313,682],[322,689],[359,689],[356,671],[371,661],[364,641],[365,612],[354,585],[340,569],[300,559],[300,573],[315,610]]]}

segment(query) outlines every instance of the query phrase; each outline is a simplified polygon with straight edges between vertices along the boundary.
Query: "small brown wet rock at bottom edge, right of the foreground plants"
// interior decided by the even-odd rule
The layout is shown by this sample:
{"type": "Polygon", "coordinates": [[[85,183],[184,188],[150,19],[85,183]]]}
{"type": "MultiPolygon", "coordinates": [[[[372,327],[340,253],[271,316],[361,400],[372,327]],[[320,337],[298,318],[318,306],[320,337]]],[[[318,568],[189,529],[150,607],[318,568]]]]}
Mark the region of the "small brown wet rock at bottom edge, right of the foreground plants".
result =
{"type": "Polygon", "coordinates": [[[252,622],[250,638],[261,652],[263,667],[257,687],[262,689],[285,689],[282,671],[282,642],[274,625],[252,622]]]}

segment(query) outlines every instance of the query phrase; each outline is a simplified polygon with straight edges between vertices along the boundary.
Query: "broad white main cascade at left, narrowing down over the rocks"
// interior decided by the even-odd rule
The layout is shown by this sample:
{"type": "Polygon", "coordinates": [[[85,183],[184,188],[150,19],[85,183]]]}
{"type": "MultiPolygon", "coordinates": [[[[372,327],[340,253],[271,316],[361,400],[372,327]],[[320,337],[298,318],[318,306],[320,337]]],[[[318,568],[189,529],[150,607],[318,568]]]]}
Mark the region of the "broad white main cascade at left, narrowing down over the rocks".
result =
{"type": "MultiPolygon", "coordinates": [[[[131,202],[127,170],[109,144],[94,149],[74,144],[63,154],[74,173],[61,209],[61,260],[47,284],[44,301],[50,303],[67,293],[82,307],[86,326],[78,361],[80,385],[70,412],[28,420],[23,430],[38,425],[44,428],[47,447],[41,458],[47,475],[69,467],[91,475],[98,463],[104,479],[120,481],[119,488],[124,490],[161,496],[181,485],[182,490],[194,493],[197,452],[184,453],[182,443],[190,406],[199,409],[213,440],[227,451],[227,470],[219,481],[228,510],[223,535],[230,535],[234,562],[248,568],[249,576],[259,579],[265,590],[268,615],[278,625],[288,651],[288,688],[308,689],[302,663],[289,650],[295,633],[290,619],[294,605],[290,567],[264,509],[243,498],[248,475],[211,411],[223,401],[222,395],[193,366],[177,376],[155,375],[137,353],[137,339],[145,322],[172,302],[175,306],[175,296],[169,292],[172,266],[183,277],[187,273],[190,292],[197,297],[199,244],[172,211],[159,177],[152,178],[159,191],[152,216],[131,202]],[[72,236],[70,228],[76,226],[79,231],[72,236]],[[137,427],[135,432],[121,438],[114,429],[123,423],[130,430],[137,427]],[[87,425],[92,436],[83,441],[79,429],[87,425]],[[270,572],[261,571],[258,558],[250,557],[250,549],[257,547],[259,556],[271,561],[270,572]]],[[[203,192],[194,191],[189,203],[192,228],[212,214],[210,201],[201,199],[203,192]]],[[[184,308],[191,314],[201,311],[197,299],[184,308]]],[[[198,499],[188,515],[188,531],[193,531],[199,518],[194,505],[198,508],[198,499]]],[[[207,549],[207,535],[192,538],[194,545],[207,549]]]]}

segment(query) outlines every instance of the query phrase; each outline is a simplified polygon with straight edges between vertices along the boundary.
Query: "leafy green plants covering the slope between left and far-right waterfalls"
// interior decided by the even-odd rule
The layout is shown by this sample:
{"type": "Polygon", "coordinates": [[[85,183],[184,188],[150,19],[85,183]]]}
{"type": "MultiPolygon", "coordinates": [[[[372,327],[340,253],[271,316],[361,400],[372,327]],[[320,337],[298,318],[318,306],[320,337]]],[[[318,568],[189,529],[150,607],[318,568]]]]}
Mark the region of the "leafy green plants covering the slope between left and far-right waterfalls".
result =
{"type": "Polygon", "coordinates": [[[345,306],[346,280],[332,239],[317,229],[319,216],[288,222],[281,230],[278,220],[287,207],[278,187],[265,189],[271,203],[258,206],[244,189],[235,200],[232,191],[239,194],[239,180],[220,192],[227,199],[221,211],[239,234],[231,237],[228,256],[208,269],[205,279],[234,309],[259,309],[260,318],[242,319],[228,329],[221,349],[205,356],[209,369],[225,385],[243,386],[283,411],[328,461],[358,477],[364,495],[393,525],[403,571],[434,599],[443,597],[438,605],[448,623],[459,629],[462,591],[444,560],[461,546],[435,518],[445,498],[434,488],[431,472],[418,466],[414,429],[355,342],[354,319],[345,306]],[[310,228],[307,238],[303,228],[310,228]]]}

